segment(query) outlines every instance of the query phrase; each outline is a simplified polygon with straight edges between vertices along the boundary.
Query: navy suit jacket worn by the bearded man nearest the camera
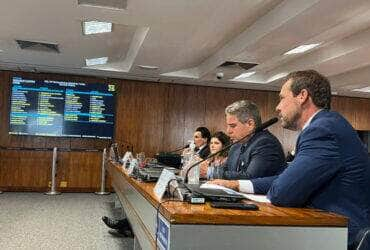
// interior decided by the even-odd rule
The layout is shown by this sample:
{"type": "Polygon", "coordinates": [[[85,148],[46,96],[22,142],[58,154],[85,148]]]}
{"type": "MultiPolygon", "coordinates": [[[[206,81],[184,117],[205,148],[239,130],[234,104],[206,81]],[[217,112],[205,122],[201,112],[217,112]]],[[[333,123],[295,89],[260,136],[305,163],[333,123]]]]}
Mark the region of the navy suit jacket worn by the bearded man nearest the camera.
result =
{"type": "Polygon", "coordinates": [[[298,137],[294,160],[279,176],[251,180],[274,205],[309,206],[349,217],[349,245],[370,226],[370,166],[352,126],[320,111],[298,137]]]}

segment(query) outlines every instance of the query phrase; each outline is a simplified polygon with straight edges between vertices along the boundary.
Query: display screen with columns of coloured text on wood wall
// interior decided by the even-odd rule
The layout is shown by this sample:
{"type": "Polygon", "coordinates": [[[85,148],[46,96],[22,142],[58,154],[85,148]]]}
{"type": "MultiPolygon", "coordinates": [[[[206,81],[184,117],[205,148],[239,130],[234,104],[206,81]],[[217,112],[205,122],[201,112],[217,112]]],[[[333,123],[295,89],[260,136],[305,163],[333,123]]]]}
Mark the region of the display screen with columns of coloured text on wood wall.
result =
{"type": "Polygon", "coordinates": [[[13,77],[9,134],[112,139],[115,90],[114,84],[13,77]]]}

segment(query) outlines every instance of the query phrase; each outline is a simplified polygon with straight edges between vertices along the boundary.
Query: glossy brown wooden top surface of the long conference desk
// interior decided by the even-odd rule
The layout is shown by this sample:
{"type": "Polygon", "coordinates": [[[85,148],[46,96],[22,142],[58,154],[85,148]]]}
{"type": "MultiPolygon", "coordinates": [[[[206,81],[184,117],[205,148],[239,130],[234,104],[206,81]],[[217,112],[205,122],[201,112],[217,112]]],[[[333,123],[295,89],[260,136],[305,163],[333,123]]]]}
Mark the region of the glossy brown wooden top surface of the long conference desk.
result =
{"type": "Polygon", "coordinates": [[[166,198],[159,201],[153,191],[155,183],[131,178],[119,164],[112,162],[108,164],[108,172],[131,184],[155,208],[159,207],[160,213],[172,224],[347,227],[348,223],[344,216],[318,209],[277,207],[254,201],[246,202],[256,204],[258,211],[212,208],[209,202],[189,204],[166,198]]]}

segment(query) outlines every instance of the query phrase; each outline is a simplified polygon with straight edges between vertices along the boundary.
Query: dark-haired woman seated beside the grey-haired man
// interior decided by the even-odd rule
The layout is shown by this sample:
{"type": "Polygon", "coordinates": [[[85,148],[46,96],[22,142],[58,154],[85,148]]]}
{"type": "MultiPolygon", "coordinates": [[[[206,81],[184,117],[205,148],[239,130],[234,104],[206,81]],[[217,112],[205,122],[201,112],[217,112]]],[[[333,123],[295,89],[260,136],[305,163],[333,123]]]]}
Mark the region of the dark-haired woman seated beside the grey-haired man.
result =
{"type": "MultiPolygon", "coordinates": [[[[230,138],[221,131],[218,131],[213,134],[210,143],[210,151],[211,154],[214,154],[220,151],[223,147],[226,147],[230,144],[230,138]]],[[[227,159],[227,153],[229,150],[221,152],[212,158],[202,162],[200,164],[200,177],[213,179],[214,173],[217,173],[221,170],[223,163],[225,163],[227,159]]]]}

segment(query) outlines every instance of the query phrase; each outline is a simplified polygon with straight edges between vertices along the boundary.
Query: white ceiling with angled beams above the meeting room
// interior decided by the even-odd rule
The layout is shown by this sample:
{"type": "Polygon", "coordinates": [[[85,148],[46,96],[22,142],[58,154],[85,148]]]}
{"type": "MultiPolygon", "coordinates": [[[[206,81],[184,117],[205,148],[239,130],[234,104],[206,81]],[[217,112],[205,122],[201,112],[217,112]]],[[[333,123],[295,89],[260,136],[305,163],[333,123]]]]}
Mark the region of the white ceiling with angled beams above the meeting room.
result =
{"type": "Polygon", "coordinates": [[[370,86],[368,0],[81,1],[125,9],[2,0],[0,69],[265,90],[278,90],[288,72],[316,69],[338,95],[370,98],[352,91],[370,86]],[[91,20],[112,22],[113,32],[83,35],[81,22],[91,20]],[[16,39],[56,43],[60,53],[21,50],[16,39]],[[320,45],[284,55],[311,43],[320,45]],[[85,66],[85,58],[103,56],[106,65],[85,66]],[[258,65],[220,67],[225,61],[258,65]],[[244,82],[230,80],[250,71],[244,82]]]}

